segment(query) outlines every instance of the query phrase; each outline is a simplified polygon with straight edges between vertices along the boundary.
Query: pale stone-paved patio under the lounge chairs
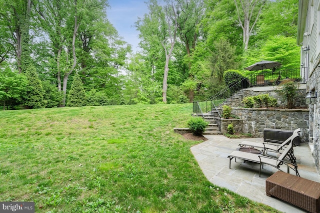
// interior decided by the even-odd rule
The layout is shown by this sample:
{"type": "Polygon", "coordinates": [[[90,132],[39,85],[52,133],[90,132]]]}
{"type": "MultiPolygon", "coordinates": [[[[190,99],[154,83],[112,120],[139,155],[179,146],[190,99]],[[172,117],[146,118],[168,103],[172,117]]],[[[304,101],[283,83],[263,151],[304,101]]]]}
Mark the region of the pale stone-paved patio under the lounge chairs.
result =
{"type": "MultiPolygon", "coordinates": [[[[265,179],[278,171],[271,166],[263,166],[259,177],[259,164],[243,162],[237,159],[231,161],[227,156],[243,141],[263,142],[262,138],[229,139],[222,135],[207,135],[208,140],[191,147],[191,152],[198,162],[205,177],[214,185],[224,187],[250,200],[263,203],[284,213],[304,213],[302,209],[276,198],[265,195],[265,179]]],[[[308,144],[303,143],[294,147],[294,156],[298,164],[298,171],[302,178],[320,182],[308,144]]],[[[286,167],[281,167],[286,172],[286,167]]],[[[290,171],[294,174],[294,171],[290,171]]]]}

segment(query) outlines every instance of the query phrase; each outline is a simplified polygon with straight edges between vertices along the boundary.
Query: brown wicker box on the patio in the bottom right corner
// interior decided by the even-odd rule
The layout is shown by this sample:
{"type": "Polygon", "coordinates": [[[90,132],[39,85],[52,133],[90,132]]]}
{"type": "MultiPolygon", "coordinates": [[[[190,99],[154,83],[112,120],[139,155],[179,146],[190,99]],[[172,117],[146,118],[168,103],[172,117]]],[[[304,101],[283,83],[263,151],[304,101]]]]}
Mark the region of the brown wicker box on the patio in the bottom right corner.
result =
{"type": "Polygon", "coordinates": [[[320,183],[278,171],[265,180],[265,193],[311,213],[320,212],[320,183]]]}

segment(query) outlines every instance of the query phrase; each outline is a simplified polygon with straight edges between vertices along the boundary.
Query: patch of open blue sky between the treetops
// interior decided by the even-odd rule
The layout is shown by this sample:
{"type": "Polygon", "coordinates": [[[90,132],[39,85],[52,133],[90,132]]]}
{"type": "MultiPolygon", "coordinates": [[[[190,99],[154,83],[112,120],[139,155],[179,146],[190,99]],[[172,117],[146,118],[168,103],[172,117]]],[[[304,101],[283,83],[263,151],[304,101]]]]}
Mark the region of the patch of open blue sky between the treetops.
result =
{"type": "Polygon", "coordinates": [[[148,12],[144,0],[108,0],[107,18],[123,39],[132,45],[133,51],[138,48],[138,32],[134,22],[148,12]]]}

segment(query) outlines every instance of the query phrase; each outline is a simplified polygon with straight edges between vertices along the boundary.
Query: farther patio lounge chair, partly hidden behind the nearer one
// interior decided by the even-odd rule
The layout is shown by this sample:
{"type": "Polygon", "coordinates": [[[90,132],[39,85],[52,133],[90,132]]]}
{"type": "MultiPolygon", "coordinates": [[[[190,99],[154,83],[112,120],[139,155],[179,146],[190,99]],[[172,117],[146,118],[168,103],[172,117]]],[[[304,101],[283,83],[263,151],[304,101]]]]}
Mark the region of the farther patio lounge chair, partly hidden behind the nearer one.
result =
{"type": "MultiPolygon", "coordinates": [[[[299,133],[301,132],[300,128],[296,129],[293,131],[292,135],[294,133],[299,133]]],[[[257,143],[257,142],[251,142],[251,141],[243,141],[239,144],[240,147],[252,147],[252,148],[262,148],[262,152],[264,154],[264,151],[268,151],[268,150],[272,150],[274,152],[279,152],[280,150],[283,150],[285,148],[285,145],[287,145],[288,143],[290,143],[291,141],[294,140],[294,138],[292,138],[292,135],[287,138],[282,144],[269,144],[269,143],[257,143]],[[291,140],[292,139],[292,140],[291,140]]]]}

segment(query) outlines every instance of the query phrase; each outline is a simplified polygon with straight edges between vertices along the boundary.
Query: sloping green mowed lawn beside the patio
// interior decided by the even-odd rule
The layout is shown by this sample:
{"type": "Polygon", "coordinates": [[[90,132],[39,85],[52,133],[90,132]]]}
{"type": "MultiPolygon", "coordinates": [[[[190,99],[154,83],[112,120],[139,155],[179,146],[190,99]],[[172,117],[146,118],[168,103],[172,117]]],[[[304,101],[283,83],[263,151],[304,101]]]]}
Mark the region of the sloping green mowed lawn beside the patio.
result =
{"type": "Polygon", "coordinates": [[[187,141],[192,105],[0,112],[0,201],[43,213],[276,212],[212,185],[187,141]]]}

